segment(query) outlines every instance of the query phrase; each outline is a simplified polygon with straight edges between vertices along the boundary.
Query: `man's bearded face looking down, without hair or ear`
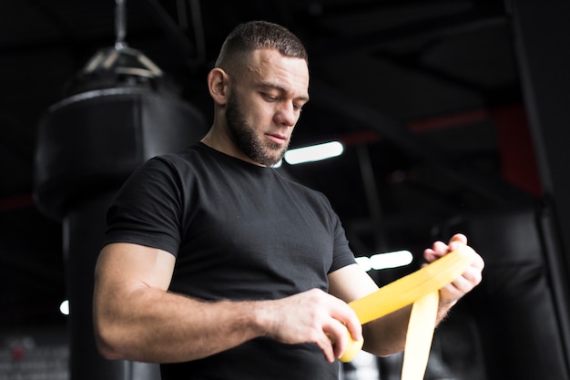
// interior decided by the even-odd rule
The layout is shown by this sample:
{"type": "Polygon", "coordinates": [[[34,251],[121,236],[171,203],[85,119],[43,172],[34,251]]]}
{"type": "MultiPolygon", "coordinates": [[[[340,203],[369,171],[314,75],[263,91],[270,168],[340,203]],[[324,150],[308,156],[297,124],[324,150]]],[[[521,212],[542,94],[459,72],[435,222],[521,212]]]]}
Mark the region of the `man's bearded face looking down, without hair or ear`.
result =
{"type": "Polygon", "coordinates": [[[272,166],[282,159],[309,100],[303,59],[264,49],[251,54],[243,75],[232,77],[226,124],[237,147],[253,161],[272,166]]]}

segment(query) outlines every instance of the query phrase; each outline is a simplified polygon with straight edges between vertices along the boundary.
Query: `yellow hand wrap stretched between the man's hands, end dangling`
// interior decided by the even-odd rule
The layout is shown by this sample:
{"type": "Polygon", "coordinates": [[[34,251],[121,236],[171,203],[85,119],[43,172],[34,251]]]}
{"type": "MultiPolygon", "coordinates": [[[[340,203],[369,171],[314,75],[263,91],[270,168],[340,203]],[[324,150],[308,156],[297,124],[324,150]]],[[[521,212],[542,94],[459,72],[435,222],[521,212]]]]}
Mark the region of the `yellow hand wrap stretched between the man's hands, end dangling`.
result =
{"type": "MultiPolygon", "coordinates": [[[[446,254],[419,271],[349,303],[361,324],[367,324],[413,303],[406,334],[402,380],[423,378],[432,346],[439,290],[460,277],[473,263],[474,258],[473,250],[462,245],[460,249],[446,254]]],[[[362,344],[362,341],[355,342],[350,339],[349,347],[341,356],[341,362],[350,362],[360,352],[362,344]]]]}

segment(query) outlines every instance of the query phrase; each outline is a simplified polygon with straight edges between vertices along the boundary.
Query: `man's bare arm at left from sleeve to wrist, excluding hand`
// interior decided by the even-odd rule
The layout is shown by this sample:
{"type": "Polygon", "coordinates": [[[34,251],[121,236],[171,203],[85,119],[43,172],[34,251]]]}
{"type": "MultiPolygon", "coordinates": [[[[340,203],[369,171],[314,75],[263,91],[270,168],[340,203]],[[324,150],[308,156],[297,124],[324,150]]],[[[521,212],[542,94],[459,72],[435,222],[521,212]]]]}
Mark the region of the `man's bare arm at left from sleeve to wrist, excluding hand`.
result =
{"type": "Polygon", "coordinates": [[[230,307],[169,293],[174,262],[168,252],[134,244],[109,244],[103,249],[94,298],[102,354],[112,359],[177,362],[214,354],[262,334],[248,304],[230,307]]]}

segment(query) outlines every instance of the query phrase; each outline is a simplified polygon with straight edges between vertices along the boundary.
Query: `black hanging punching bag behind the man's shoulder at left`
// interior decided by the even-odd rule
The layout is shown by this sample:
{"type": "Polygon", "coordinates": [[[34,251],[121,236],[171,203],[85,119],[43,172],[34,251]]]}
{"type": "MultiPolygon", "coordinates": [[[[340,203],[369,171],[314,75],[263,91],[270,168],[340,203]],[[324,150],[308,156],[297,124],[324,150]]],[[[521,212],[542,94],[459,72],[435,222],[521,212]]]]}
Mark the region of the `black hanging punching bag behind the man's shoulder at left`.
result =
{"type": "Polygon", "coordinates": [[[158,67],[125,46],[100,51],[40,121],[38,208],[63,223],[71,380],[158,380],[158,365],[107,361],[92,324],[94,269],[109,203],[147,159],[198,141],[205,119],[158,67]]]}

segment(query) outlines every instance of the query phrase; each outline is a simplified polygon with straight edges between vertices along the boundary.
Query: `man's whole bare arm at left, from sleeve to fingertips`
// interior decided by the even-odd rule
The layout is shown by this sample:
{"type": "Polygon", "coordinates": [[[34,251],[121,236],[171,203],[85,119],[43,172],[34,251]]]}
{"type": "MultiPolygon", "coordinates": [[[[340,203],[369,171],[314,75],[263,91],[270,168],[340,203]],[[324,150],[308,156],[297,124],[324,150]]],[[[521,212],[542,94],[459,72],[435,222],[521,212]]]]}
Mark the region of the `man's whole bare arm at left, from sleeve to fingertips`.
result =
{"type": "Polygon", "coordinates": [[[360,334],[350,307],[318,290],[258,302],[206,302],[170,293],[174,263],[170,253],[136,244],[113,243],[102,250],[94,294],[101,354],[171,363],[270,336],[282,343],[318,344],[332,361],[344,351],[343,324],[352,334],[360,334]]]}

